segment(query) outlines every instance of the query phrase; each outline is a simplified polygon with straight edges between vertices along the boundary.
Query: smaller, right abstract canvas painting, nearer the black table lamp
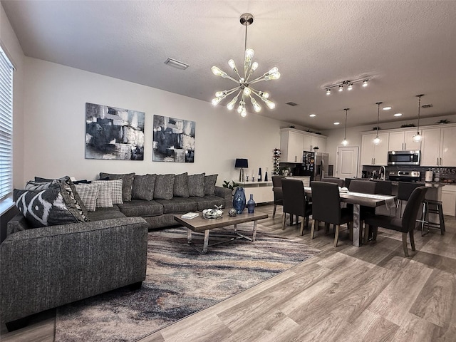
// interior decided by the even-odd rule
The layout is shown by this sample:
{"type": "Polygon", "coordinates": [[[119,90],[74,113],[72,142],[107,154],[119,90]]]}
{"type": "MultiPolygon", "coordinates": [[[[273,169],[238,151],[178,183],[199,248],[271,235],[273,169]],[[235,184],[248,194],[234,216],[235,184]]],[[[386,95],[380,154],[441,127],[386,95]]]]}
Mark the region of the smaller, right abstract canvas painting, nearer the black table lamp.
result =
{"type": "Polygon", "coordinates": [[[152,161],[194,162],[195,121],[154,115],[152,161]]]}

